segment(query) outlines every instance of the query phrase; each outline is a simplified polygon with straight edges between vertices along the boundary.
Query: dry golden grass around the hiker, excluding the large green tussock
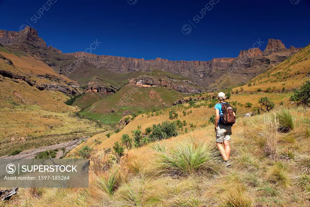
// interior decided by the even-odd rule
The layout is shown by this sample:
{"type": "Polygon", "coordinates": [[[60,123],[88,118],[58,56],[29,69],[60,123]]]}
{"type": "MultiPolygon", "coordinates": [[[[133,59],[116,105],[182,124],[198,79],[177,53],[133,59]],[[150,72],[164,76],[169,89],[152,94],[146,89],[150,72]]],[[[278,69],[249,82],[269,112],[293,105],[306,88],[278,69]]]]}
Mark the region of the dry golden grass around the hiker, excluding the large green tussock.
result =
{"type": "MultiPolygon", "coordinates": [[[[194,113],[194,111],[193,111],[194,113]]],[[[156,143],[131,149],[119,168],[122,179],[107,193],[96,185],[96,176],[90,173],[88,189],[20,189],[7,205],[18,206],[308,206],[305,186],[298,184],[300,165],[308,162],[289,161],[276,157],[271,161],[264,153],[266,134],[264,115],[239,118],[232,127],[232,168],[219,169],[218,175],[193,173],[173,177],[158,174],[156,143]],[[153,147],[154,148],[154,147],[153,147]],[[235,193],[233,193],[235,192],[235,193]]],[[[303,116],[301,114],[301,116],[303,116]]],[[[154,117],[158,118],[158,117],[154,117]]],[[[135,121],[135,120],[134,120],[135,121]]],[[[131,123],[135,123],[135,122],[131,123]]],[[[159,121],[159,120],[158,120],[159,121]]],[[[139,122],[137,122],[139,123],[139,122]]],[[[144,126],[148,126],[145,124],[144,126]]],[[[126,127],[125,127],[126,128],[126,127]]],[[[135,127],[134,127],[135,128],[135,127]]],[[[294,130],[297,130],[294,129],[294,130]]],[[[291,132],[290,132],[291,133],[291,132]]],[[[280,137],[286,136],[280,133],[280,137]]],[[[193,137],[197,142],[215,146],[213,126],[195,129],[187,134],[162,140],[166,151],[177,143],[193,137]]],[[[309,149],[306,140],[298,143],[279,141],[280,148],[292,146],[296,154],[309,149]],[[297,145],[297,147],[295,146],[297,145]]],[[[100,175],[107,179],[108,173],[100,175]]]]}

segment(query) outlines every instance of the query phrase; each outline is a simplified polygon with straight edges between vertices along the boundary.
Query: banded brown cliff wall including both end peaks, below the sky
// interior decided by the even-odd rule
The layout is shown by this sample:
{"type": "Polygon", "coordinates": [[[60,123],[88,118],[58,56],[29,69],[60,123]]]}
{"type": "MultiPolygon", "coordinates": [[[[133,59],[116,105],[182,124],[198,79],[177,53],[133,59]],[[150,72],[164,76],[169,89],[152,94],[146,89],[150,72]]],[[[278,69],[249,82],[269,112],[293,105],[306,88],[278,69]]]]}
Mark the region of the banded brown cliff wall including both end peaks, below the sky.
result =
{"type": "Polygon", "coordinates": [[[269,39],[264,51],[252,48],[241,51],[236,58],[213,58],[211,61],[172,61],[162,58],[145,60],[144,58],[95,55],[85,52],[61,53],[58,49],[47,47],[44,40],[38,37],[38,32],[30,27],[26,27],[21,32],[0,30],[0,43],[12,50],[28,47],[29,49],[25,52],[30,51],[47,63],[56,73],[65,74],[74,81],[78,81],[81,77],[92,78],[93,71],[100,74],[101,72],[128,73],[161,70],[183,76],[193,85],[200,85],[209,91],[213,90],[210,90],[213,84],[217,84],[218,88],[225,88],[246,83],[301,49],[293,46],[286,49],[281,40],[269,39]],[[12,45],[14,43],[19,43],[22,47],[16,48],[17,45],[12,45]],[[33,50],[29,44],[51,52],[33,50]],[[69,70],[65,72],[66,69],[69,70]]]}

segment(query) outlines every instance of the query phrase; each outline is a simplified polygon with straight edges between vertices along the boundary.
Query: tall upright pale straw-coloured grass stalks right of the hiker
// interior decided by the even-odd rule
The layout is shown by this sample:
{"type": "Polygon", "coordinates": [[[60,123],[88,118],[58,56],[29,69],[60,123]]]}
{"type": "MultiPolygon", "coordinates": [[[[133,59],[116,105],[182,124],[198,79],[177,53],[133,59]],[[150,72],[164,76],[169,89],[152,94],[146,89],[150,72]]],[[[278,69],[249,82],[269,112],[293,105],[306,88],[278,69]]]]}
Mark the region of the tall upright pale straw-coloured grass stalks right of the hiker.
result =
{"type": "Polygon", "coordinates": [[[264,117],[265,122],[265,143],[264,152],[270,156],[270,158],[275,158],[277,155],[278,142],[279,142],[279,121],[276,114],[264,117]]]}

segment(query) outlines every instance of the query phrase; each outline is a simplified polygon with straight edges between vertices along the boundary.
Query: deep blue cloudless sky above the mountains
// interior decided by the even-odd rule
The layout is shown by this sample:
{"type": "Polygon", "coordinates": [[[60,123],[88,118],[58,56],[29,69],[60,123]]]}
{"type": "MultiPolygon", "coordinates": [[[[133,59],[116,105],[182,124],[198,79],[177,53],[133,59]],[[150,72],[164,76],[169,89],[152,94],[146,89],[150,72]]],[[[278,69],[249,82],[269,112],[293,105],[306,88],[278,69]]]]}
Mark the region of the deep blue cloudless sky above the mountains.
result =
{"type": "Polygon", "coordinates": [[[287,48],[310,43],[310,0],[214,0],[214,7],[209,1],[51,0],[54,5],[33,23],[47,0],[0,0],[0,29],[17,31],[30,23],[47,45],[63,52],[85,51],[97,39],[101,44],[92,53],[145,59],[237,57],[259,39],[264,50],[269,38],[287,48]],[[212,9],[195,23],[206,5],[212,9]],[[185,24],[192,27],[188,35],[182,33],[185,24]]]}

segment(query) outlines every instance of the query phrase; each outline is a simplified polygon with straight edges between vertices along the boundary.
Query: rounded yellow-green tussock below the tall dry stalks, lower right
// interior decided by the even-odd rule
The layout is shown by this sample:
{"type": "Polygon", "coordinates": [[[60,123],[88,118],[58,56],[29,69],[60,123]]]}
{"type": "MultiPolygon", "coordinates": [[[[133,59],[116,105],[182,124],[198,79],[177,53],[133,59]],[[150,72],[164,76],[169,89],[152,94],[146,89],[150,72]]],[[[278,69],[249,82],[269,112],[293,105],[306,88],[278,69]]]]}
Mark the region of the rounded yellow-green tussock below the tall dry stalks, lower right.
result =
{"type": "Polygon", "coordinates": [[[292,185],[292,181],[287,172],[287,167],[283,163],[275,163],[270,168],[268,180],[274,183],[280,184],[284,188],[288,188],[292,185]]]}

